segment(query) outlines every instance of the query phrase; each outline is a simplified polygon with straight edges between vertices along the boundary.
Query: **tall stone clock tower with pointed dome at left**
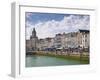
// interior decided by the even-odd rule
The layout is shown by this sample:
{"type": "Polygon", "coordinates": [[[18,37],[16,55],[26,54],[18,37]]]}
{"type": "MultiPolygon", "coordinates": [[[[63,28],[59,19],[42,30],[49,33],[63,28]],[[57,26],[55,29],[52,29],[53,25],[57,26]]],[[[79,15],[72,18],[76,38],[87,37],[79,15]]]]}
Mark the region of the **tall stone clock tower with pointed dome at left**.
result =
{"type": "Polygon", "coordinates": [[[31,48],[32,48],[32,50],[36,51],[37,50],[37,46],[38,46],[38,37],[36,35],[35,28],[33,28],[33,30],[32,30],[32,35],[30,37],[30,40],[31,40],[31,48]]]}

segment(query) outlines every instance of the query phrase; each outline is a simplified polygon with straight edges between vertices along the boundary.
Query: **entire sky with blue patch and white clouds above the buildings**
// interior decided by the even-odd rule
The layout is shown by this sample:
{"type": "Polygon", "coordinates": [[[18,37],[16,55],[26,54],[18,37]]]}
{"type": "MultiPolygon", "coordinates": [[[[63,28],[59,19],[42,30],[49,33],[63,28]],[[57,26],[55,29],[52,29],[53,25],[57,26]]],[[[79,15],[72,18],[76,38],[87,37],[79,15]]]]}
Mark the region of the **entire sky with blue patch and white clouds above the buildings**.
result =
{"type": "Polygon", "coordinates": [[[26,39],[36,29],[38,38],[54,37],[58,33],[76,32],[79,29],[89,30],[90,16],[80,14],[58,13],[25,13],[26,39]]]}

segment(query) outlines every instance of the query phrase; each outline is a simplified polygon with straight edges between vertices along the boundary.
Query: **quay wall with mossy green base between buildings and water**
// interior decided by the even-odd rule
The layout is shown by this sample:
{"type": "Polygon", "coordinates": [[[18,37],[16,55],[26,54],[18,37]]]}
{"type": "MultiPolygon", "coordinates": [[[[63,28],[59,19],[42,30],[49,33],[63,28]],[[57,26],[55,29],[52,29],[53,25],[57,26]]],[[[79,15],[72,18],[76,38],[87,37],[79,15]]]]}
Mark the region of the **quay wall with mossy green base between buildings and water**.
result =
{"type": "MultiPolygon", "coordinates": [[[[89,63],[89,53],[88,52],[65,52],[65,51],[31,51],[29,55],[42,55],[42,56],[51,56],[59,57],[65,59],[72,59],[83,61],[89,63]]],[[[28,54],[27,54],[28,55],[28,54]]]]}

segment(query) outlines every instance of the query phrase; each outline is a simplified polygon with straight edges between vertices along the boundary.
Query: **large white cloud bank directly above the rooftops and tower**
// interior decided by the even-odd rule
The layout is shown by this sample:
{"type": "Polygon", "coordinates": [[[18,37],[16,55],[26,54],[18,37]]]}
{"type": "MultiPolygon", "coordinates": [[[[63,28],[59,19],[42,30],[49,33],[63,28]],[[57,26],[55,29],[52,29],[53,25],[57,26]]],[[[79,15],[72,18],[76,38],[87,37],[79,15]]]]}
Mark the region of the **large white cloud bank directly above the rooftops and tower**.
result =
{"type": "Polygon", "coordinates": [[[54,37],[57,33],[72,32],[78,29],[89,29],[89,16],[70,15],[64,17],[61,21],[39,22],[35,25],[26,22],[26,38],[29,39],[32,29],[35,27],[39,38],[54,37]]]}

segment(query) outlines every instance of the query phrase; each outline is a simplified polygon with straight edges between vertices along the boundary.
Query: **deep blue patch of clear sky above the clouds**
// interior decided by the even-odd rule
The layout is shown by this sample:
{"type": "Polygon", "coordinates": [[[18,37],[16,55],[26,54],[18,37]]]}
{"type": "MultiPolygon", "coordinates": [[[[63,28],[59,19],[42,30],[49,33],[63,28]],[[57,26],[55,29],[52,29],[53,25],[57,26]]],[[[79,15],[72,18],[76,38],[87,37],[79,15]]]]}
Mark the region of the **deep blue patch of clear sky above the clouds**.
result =
{"type": "Polygon", "coordinates": [[[29,21],[32,24],[37,24],[38,22],[46,22],[51,20],[61,21],[64,18],[64,16],[69,15],[70,14],[26,12],[26,21],[29,21]]]}

